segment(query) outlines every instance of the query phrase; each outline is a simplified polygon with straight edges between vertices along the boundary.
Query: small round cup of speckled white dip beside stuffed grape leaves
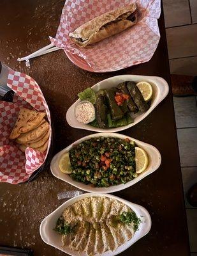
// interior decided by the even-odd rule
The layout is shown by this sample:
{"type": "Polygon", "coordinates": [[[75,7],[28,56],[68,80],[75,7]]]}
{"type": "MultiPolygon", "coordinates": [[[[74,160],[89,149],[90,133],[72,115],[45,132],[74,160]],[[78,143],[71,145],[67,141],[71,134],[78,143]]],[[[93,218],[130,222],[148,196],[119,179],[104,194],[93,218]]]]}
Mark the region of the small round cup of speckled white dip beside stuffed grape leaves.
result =
{"type": "Polygon", "coordinates": [[[75,116],[77,121],[82,124],[88,124],[95,119],[94,105],[89,101],[82,101],[75,107],[75,116]]]}

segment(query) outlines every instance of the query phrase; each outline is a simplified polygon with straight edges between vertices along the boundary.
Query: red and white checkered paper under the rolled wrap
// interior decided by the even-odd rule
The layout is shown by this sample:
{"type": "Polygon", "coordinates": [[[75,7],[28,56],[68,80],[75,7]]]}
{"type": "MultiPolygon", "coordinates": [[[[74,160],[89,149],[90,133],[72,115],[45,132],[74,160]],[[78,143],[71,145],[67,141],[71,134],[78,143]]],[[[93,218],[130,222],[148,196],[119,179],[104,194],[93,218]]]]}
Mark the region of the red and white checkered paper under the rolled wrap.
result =
{"type": "Polygon", "coordinates": [[[156,51],[160,34],[157,25],[160,0],[66,0],[55,38],[51,42],[64,51],[84,58],[94,72],[115,71],[149,61],[156,51]],[[105,12],[136,3],[139,19],[135,26],[89,48],[77,47],[69,32],[105,12]]]}

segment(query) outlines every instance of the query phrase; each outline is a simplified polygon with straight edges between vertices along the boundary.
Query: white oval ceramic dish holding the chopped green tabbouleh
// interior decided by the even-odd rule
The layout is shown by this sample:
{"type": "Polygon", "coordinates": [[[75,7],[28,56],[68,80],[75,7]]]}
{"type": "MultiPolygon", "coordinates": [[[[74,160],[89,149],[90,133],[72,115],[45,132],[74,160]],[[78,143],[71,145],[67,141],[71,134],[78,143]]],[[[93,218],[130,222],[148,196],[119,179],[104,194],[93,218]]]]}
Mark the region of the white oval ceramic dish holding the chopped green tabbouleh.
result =
{"type": "Polygon", "coordinates": [[[161,164],[161,154],[159,153],[157,148],[153,147],[150,144],[147,144],[147,143],[139,141],[139,140],[135,140],[134,138],[131,138],[129,136],[122,135],[122,134],[96,133],[96,134],[91,134],[89,136],[85,136],[84,138],[81,138],[80,140],[75,141],[74,143],[72,143],[68,147],[64,148],[59,153],[57,153],[53,157],[53,159],[50,163],[50,170],[51,170],[52,174],[55,177],[57,177],[58,179],[64,180],[64,181],[68,182],[69,184],[71,184],[71,185],[73,185],[77,188],[83,189],[84,191],[93,192],[93,193],[113,193],[113,192],[120,191],[122,189],[125,189],[125,188],[128,188],[128,187],[134,185],[136,182],[142,180],[144,177],[146,177],[150,173],[156,171],[157,168],[159,168],[160,164],[161,164]],[[127,182],[126,184],[119,184],[119,185],[116,185],[116,186],[110,186],[108,188],[95,188],[91,184],[85,185],[82,182],[77,182],[76,180],[71,179],[71,177],[68,174],[61,172],[61,170],[59,168],[59,159],[60,159],[61,155],[64,152],[68,152],[73,146],[81,143],[82,141],[89,140],[91,138],[101,137],[101,136],[115,137],[115,138],[120,138],[120,139],[129,138],[130,140],[135,141],[136,145],[138,145],[138,147],[143,148],[149,156],[149,165],[147,167],[147,170],[140,173],[138,175],[138,177],[136,177],[135,179],[127,182]]]}

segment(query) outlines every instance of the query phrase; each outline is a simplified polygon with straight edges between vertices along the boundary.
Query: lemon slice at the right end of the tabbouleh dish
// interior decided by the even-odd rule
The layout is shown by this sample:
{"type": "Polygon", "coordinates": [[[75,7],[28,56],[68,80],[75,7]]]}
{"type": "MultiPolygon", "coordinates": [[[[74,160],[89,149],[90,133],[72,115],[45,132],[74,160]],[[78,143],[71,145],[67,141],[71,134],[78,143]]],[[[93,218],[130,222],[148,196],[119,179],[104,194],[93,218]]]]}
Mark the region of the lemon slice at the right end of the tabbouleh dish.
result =
{"type": "Polygon", "coordinates": [[[135,164],[136,173],[141,173],[146,170],[149,164],[149,157],[147,152],[142,148],[135,147],[135,164]]]}

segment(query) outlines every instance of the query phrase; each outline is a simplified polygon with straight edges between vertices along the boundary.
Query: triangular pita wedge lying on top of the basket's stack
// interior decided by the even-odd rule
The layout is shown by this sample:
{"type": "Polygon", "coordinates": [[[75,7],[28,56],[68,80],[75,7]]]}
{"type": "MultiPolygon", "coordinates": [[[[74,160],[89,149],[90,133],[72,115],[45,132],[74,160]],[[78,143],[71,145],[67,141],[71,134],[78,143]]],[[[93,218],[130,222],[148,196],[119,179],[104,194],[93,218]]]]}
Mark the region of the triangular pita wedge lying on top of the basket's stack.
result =
{"type": "Polygon", "coordinates": [[[24,132],[29,132],[41,123],[45,113],[40,113],[31,109],[21,108],[17,121],[11,131],[10,140],[14,140],[24,132]]]}

